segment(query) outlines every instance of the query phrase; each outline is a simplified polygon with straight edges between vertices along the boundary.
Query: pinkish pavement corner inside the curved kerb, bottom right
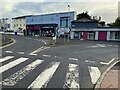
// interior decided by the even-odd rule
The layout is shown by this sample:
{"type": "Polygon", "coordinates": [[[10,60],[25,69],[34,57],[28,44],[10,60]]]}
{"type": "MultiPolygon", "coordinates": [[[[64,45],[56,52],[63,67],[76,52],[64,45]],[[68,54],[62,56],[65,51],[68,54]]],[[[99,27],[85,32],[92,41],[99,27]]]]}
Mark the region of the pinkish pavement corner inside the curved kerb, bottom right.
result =
{"type": "Polygon", "coordinates": [[[100,90],[120,90],[120,62],[113,66],[100,84],[100,90]]]}

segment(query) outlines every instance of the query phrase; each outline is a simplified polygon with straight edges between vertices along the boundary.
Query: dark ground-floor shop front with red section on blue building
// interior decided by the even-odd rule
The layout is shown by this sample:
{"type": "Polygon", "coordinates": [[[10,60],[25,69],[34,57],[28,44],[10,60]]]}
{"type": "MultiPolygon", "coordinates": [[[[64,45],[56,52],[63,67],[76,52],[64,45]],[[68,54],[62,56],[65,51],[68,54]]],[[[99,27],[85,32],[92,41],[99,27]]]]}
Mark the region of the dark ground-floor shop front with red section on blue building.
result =
{"type": "Polygon", "coordinates": [[[47,36],[51,37],[56,34],[57,24],[40,24],[40,25],[27,25],[28,36],[47,36]]]}

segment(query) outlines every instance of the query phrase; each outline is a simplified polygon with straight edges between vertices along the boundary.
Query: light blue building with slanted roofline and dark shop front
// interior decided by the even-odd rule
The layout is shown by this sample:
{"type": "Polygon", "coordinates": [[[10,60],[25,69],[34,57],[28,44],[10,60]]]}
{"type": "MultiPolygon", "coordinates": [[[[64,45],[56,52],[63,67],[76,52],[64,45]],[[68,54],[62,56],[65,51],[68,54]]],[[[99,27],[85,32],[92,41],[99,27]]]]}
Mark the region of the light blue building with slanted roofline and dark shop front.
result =
{"type": "Polygon", "coordinates": [[[27,35],[52,36],[68,32],[76,13],[62,12],[26,17],[27,35]]]}

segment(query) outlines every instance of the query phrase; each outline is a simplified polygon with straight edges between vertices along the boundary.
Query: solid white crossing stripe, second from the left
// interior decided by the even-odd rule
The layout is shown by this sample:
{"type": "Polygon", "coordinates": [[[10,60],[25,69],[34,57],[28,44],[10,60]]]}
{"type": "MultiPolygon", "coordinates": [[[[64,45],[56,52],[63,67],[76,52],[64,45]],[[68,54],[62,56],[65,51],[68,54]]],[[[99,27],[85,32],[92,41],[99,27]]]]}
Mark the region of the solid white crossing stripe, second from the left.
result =
{"type": "Polygon", "coordinates": [[[0,67],[0,73],[3,73],[5,71],[7,71],[8,69],[10,69],[10,68],[12,68],[12,67],[14,67],[14,66],[16,66],[16,65],[18,65],[18,64],[20,64],[20,63],[22,63],[24,61],[26,61],[27,59],[28,58],[23,58],[22,57],[22,58],[19,58],[19,59],[13,61],[13,62],[10,62],[10,63],[0,67]]]}

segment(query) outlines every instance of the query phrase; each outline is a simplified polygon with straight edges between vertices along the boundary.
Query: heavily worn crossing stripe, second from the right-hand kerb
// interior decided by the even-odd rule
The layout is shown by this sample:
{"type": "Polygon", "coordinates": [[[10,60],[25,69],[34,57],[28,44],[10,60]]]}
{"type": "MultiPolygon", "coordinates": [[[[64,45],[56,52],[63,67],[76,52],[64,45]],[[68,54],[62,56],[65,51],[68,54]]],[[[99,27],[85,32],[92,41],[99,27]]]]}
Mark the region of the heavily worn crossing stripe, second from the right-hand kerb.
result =
{"type": "Polygon", "coordinates": [[[68,71],[66,74],[66,80],[63,88],[71,88],[79,90],[79,71],[78,71],[78,65],[76,64],[69,64],[68,71]]]}

